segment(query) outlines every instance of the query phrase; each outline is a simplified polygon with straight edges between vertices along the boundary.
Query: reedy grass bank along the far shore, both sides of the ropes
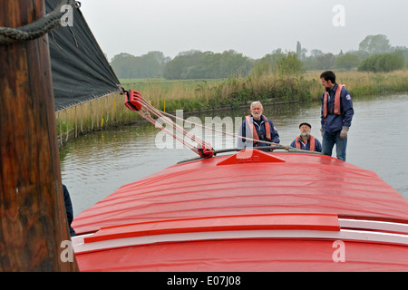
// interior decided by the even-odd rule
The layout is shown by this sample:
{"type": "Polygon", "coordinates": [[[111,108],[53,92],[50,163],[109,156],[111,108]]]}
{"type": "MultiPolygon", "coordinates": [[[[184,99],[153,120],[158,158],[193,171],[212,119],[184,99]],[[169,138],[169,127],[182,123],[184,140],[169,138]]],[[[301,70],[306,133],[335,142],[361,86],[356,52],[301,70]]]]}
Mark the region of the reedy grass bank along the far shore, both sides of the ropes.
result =
{"type": "MultiPolygon", "coordinates": [[[[253,73],[247,77],[210,80],[122,79],[125,90],[135,90],[160,111],[229,110],[253,101],[316,102],[323,87],[320,71],[306,73],[253,73]]],[[[344,83],[354,98],[408,92],[408,70],[390,73],[337,72],[336,82],[344,83]]],[[[55,113],[59,145],[90,131],[141,121],[124,106],[119,92],[91,102],[83,102],[55,113]]]]}

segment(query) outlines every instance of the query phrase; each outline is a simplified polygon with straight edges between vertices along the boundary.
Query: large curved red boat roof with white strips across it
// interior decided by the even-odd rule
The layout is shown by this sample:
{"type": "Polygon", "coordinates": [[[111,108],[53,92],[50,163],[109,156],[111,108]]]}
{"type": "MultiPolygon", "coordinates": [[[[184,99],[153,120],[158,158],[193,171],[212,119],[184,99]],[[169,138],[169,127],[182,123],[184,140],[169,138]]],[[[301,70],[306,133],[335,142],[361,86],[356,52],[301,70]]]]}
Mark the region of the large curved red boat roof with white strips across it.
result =
{"type": "Polygon", "coordinates": [[[408,270],[408,202],[321,155],[243,150],[175,165],[73,227],[83,271],[408,270]]]}

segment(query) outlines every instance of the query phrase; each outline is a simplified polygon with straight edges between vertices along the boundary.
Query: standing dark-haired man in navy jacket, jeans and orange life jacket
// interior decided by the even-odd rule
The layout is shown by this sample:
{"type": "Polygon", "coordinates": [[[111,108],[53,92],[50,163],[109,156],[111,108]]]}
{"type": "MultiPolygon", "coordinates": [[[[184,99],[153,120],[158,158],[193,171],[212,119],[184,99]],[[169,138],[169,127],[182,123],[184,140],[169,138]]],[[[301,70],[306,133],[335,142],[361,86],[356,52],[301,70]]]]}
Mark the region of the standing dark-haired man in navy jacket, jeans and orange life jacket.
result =
{"type": "Polygon", "coordinates": [[[320,75],[325,93],[322,95],[321,124],[323,137],[322,153],[332,156],[335,146],[336,157],[345,161],[347,132],[355,111],[350,93],[344,85],[335,82],[335,73],[327,71],[320,75]]]}

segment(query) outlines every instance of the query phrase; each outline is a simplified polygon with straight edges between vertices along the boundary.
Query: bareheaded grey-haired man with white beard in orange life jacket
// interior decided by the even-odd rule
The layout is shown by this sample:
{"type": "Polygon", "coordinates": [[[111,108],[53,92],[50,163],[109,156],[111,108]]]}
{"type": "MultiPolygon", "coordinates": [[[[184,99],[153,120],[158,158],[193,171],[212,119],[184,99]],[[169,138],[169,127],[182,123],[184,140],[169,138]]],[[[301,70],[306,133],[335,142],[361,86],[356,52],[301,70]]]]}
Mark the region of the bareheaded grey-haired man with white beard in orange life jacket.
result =
{"type": "Polygon", "coordinates": [[[249,109],[251,115],[245,118],[238,131],[238,136],[242,136],[244,138],[238,138],[237,147],[252,148],[271,146],[271,144],[257,142],[256,140],[262,140],[278,144],[280,140],[279,134],[277,133],[277,128],[275,128],[272,121],[270,121],[264,115],[262,115],[262,113],[264,112],[262,104],[258,101],[252,102],[249,109]],[[245,139],[245,137],[247,136],[248,138],[254,139],[254,141],[252,140],[247,141],[245,139]]]}

